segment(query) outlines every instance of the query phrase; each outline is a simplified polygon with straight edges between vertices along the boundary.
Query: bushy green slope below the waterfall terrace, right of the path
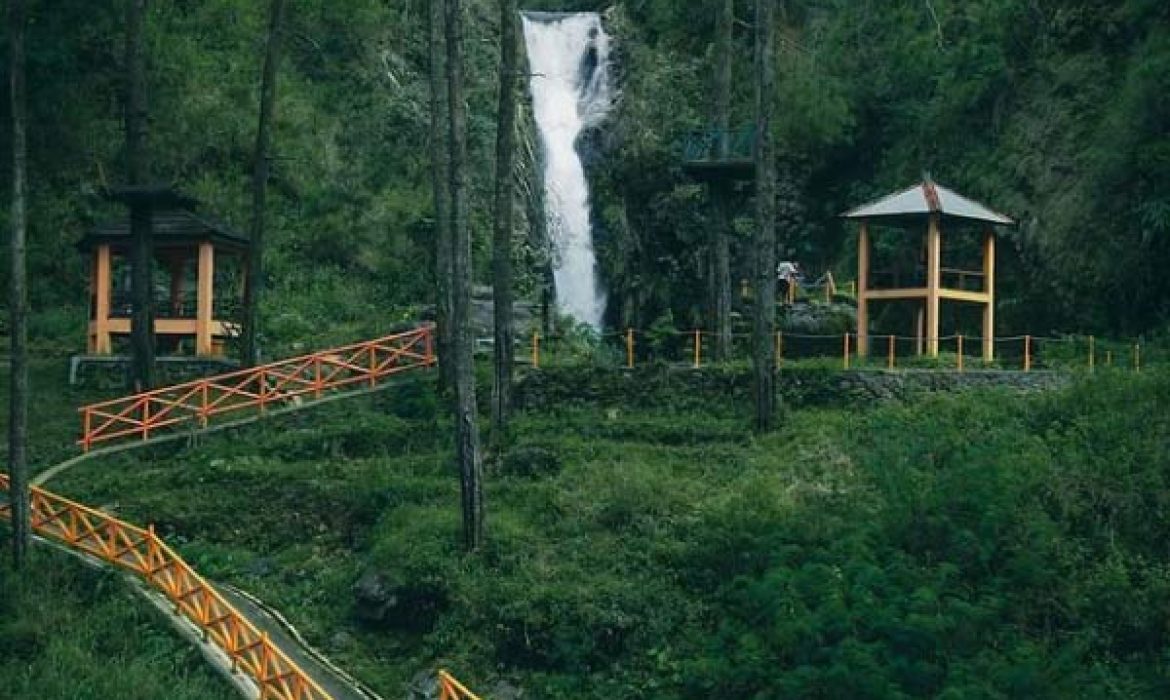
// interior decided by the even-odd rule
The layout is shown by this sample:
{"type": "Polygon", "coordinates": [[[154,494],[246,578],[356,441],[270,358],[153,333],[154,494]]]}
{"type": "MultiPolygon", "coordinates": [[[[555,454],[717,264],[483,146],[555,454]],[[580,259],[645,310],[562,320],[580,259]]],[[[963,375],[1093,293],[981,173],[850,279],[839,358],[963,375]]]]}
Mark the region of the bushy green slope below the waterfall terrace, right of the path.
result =
{"type": "Polygon", "coordinates": [[[707,399],[518,416],[473,557],[426,380],[53,486],[156,523],[387,696],[436,665],[537,698],[1170,692],[1170,375],[765,438],[707,399]],[[397,606],[356,603],[371,571],[397,606]]]}

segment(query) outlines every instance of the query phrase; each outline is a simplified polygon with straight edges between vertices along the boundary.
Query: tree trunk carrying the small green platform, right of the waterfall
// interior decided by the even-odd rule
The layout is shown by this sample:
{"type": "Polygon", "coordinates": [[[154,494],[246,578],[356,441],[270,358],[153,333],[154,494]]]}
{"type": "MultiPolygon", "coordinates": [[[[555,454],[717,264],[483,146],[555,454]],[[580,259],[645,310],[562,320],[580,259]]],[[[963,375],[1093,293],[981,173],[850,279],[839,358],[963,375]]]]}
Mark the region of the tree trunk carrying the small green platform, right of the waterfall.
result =
{"type": "MultiPolygon", "coordinates": [[[[715,128],[720,130],[720,158],[731,155],[731,60],[735,27],[735,0],[722,0],[716,36],[715,128]]],[[[715,301],[715,359],[731,358],[731,207],[734,190],[725,183],[711,184],[715,226],[711,228],[711,282],[715,301]]]]}

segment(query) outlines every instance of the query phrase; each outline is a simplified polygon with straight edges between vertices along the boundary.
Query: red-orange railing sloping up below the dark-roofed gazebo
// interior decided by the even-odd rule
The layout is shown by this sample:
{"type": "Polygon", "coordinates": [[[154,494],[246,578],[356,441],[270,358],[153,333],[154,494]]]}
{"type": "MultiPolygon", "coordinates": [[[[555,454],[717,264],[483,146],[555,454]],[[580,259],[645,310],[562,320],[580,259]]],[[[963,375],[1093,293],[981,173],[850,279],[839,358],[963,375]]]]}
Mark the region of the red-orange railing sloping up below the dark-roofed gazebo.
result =
{"type": "Polygon", "coordinates": [[[377,386],[386,377],[435,364],[431,327],[82,406],[82,437],[95,444],[192,424],[225,413],[300,405],[330,390],[377,386]]]}

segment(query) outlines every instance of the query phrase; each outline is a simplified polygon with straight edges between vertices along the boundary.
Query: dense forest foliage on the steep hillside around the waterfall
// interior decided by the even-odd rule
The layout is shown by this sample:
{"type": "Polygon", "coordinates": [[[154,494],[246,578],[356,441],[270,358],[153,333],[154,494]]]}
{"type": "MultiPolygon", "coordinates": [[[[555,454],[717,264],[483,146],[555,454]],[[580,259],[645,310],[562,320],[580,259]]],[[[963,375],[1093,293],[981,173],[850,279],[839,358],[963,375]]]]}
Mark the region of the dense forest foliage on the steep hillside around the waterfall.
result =
{"type": "MultiPolygon", "coordinates": [[[[156,178],[241,231],[264,5],[158,2],[146,21],[156,178]]],[[[607,9],[615,41],[622,97],[585,139],[611,322],[648,329],[670,310],[680,328],[703,325],[709,211],[680,152],[684,135],[710,121],[720,2],[538,5],[607,9]]],[[[930,171],[1021,224],[1000,247],[1005,334],[1164,327],[1170,102],[1159,76],[1170,64],[1170,6],[791,0],[785,8],[782,260],[851,279],[853,233],[835,215],[930,171]]],[[[467,0],[467,12],[470,225],[476,277],[487,282],[498,14],[489,0],[467,0]]],[[[433,267],[422,265],[433,253],[426,14],[418,0],[289,5],[269,187],[269,356],[309,336],[322,345],[372,337],[432,301],[433,267]]],[[[33,0],[29,15],[33,331],[76,350],[85,277],[71,246],[88,226],[125,214],[97,197],[124,170],[123,19],[119,4],[78,0],[33,0]]],[[[736,16],[748,22],[750,2],[738,1],[736,16]]],[[[744,25],[734,67],[738,124],[751,118],[750,56],[744,25]]],[[[530,119],[522,123],[537,144],[530,119]]],[[[532,163],[522,160],[528,180],[532,163]]],[[[0,170],[6,190],[9,174],[0,170]]],[[[532,206],[517,203],[522,213],[532,206]]],[[[750,195],[736,207],[744,219],[734,280],[749,276],[750,195]]],[[[516,270],[526,294],[548,251],[519,221],[516,270]]],[[[0,266],[0,283],[7,274],[0,266]]]]}

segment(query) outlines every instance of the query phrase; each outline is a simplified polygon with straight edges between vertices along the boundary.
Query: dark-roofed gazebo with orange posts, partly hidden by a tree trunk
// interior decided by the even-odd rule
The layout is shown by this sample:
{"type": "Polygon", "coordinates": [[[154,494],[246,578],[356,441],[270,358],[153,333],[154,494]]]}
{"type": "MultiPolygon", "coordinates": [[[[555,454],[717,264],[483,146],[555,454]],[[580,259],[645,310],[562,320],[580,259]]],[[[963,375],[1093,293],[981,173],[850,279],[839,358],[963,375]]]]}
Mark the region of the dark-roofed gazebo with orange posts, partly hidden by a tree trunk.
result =
{"type": "MultiPolygon", "coordinates": [[[[198,357],[223,355],[223,339],[236,335],[233,318],[239,307],[242,270],[249,253],[248,238],[214,218],[198,213],[198,204],[171,193],[156,198],[150,210],[154,249],[154,337],[160,350],[198,357]],[[234,262],[239,284],[222,287],[230,275],[216,274],[216,266],[234,262]],[[219,295],[219,296],[216,296],[219,295]]],[[[130,294],[130,222],[128,219],[102,224],[82,236],[77,247],[91,258],[90,314],[87,350],[89,355],[113,355],[113,339],[129,336],[132,297],[130,294]]]]}

